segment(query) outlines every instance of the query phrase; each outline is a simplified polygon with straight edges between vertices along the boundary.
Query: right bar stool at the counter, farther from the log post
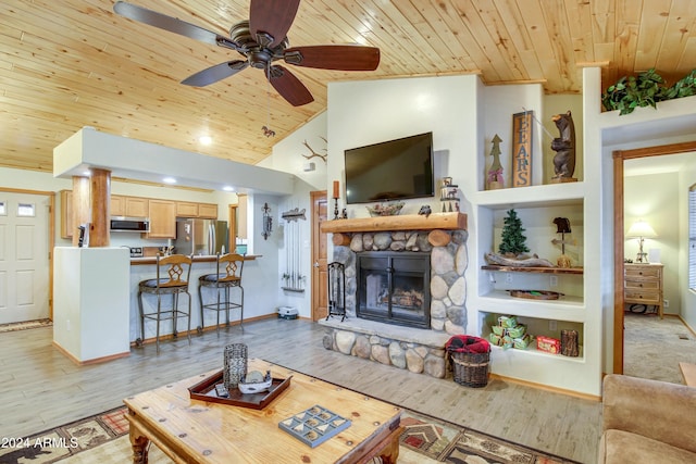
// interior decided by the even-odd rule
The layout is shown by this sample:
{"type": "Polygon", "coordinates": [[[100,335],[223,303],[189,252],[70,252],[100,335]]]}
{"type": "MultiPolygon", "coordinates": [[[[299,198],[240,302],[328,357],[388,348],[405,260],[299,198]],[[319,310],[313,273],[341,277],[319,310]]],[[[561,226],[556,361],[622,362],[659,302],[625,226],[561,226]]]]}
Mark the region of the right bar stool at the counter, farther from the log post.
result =
{"type": "MultiPolygon", "coordinates": [[[[221,255],[217,253],[217,272],[206,274],[198,278],[198,299],[200,300],[200,329],[206,327],[204,310],[217,312],[216,330],[220,331],[220,312],[226,315],[226,327],[229,327],[229,310],[239,309],[239,326],[244,323],[244,287],[241,287],[241,271],[244,269],[244,255],[228,253],[221,255]],[[215,290],[214,301],[203,304],[203,288],[215,290]],[[232,301],[229,293],[233,288],[239,289],[239,299],[232,301]]],[[[244,330],[244,327],[243,327],[244,330]]]]}

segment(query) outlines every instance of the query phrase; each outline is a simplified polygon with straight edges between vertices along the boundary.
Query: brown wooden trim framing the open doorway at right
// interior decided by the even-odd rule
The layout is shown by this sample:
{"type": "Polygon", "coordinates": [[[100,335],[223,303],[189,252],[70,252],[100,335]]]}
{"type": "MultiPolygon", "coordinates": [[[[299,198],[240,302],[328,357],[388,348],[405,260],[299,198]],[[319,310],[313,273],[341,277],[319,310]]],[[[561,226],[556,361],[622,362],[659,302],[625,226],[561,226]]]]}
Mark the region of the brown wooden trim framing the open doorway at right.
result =
{"type": "Polygon", "coordinates": [[[613,155],[613,373],[623,374],[624,364],[624,161],[696,151],[696,141],[617,150],[613,155]]]}

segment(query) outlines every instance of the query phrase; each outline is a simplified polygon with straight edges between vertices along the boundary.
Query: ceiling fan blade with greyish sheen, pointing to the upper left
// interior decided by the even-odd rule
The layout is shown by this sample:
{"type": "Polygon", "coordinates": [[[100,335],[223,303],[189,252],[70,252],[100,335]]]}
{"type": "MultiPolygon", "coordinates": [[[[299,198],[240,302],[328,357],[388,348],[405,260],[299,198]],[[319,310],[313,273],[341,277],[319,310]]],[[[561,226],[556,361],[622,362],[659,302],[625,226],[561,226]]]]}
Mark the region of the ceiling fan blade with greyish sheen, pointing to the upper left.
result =
{"type": "Polygon", "coordinates": [[[191,39],[200,40],[206,43],[214,46],[224,46],[234,50],[239,50],[239,46],[232,41],[228,37],[221,36],[212,30],[204,29],[195,24],[187,23],[176,17],[167,16],[157,11],[148,10],[142,7],[127,3],[125,1],[117,1],[113,5],[113,11],[121,16],[129,20],[138,21],[140,23],[149,24],[150,26],[159,27],[160,29],[169,30],[170,33],[179,34],[182,36],[190,37],[191,39]]]}

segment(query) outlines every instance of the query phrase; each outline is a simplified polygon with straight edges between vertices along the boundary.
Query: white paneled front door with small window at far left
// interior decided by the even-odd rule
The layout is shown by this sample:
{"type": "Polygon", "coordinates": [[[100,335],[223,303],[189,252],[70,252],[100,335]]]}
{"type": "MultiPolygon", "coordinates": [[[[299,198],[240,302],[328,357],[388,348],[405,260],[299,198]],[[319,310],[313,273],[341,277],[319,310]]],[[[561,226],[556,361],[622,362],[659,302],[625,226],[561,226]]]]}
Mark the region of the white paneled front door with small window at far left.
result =
{"type": "Polygon", "coordinates": [[[0,324],[49,316],[49,205],[0,191],[0,324]]]}

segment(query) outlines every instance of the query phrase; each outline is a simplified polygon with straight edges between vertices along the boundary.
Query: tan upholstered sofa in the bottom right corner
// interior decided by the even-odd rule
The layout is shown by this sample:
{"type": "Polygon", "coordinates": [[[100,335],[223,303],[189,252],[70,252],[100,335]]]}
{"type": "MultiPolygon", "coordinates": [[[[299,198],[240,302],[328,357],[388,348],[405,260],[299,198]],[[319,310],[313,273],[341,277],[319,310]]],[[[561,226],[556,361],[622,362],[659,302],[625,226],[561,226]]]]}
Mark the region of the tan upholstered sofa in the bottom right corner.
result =
{"type": "Polygon", "coordinates": [[[696,388],[623,375],[604,380],[598,463],[696,463],[696,388]]]}

